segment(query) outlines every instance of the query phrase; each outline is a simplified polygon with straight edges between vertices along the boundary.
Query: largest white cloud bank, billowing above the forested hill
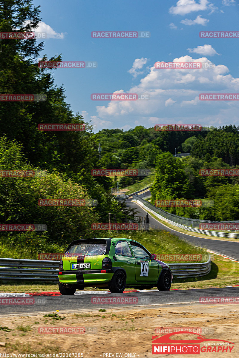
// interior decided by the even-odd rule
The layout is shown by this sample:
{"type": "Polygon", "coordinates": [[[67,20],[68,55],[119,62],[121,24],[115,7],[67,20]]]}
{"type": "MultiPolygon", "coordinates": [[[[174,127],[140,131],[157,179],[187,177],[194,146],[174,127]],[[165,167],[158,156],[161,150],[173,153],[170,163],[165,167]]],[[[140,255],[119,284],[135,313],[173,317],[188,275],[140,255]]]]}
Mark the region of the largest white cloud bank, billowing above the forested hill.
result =
{"type": "MultiPolygon", "coordinates": [[[[160,60],[160,59],[159,59],[160,60]]],[[[163,61],[163,59],[161,59],[163,61]]],[[[207,57],[193,59],[186,55],[174,62],[207,62],[207,57]]],[[[117,128],[133,125],[152,127],[158,123],[199,123],[219,126],[236,124],[239,119],[236,101],[200,101],[200,93],[238,93],[239,78],[228,74],[223,64],[200,69],[156,69],[129,89],[115,92],[149,93],[150,100],[110,101],[97,106],[97,118],[111,121],[117,128]]]]}

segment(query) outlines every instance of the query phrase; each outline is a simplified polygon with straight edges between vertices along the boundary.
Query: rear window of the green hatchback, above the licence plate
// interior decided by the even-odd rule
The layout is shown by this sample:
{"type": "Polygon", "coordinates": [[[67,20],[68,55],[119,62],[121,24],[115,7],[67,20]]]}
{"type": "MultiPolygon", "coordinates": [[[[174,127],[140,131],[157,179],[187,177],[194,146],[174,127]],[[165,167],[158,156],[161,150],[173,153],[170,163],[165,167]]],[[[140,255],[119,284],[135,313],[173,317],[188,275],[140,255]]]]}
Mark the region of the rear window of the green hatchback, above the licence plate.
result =
{"type": "Polygon", "coordinates": [[[104,255],[106,252],[105,241],[88,241],[80,242],[76,245],[71,246],[64,256],[77,256],[77,255],[104,255]]]}

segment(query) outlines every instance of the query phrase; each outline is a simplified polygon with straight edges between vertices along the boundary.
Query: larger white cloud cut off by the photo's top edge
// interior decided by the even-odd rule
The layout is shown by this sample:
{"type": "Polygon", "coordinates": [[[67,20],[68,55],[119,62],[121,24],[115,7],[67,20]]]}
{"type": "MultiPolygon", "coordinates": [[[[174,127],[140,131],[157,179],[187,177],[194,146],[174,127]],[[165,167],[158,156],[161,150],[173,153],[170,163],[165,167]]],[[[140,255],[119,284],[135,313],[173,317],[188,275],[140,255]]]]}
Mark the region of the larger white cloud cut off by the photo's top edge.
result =
{"type": "Polygon", "coordinates": [[[208,5],[208,0],[199,0],[199,3],[196,3],[195,0],[179,0],[176,6],[169,9],[169,14],[186,15],[193,11],[207,10],[208,5]]]}

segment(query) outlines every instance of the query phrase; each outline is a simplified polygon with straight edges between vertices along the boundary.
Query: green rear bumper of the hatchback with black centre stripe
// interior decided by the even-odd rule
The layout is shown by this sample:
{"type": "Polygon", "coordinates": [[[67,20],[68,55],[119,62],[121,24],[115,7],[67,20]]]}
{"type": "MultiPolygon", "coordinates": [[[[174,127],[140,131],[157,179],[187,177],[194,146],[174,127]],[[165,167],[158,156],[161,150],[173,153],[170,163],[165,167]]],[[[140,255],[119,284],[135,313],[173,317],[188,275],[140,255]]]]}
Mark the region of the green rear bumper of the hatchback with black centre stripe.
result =
{"type": "Polygon", "coordinates": [[[61,271],[61,275],[58,274],[58,279],[62,284],[100,285],[110,282],[113,275],[113,270],[106,270],[106,272],[101,272],[101,270],[61,271]]]}

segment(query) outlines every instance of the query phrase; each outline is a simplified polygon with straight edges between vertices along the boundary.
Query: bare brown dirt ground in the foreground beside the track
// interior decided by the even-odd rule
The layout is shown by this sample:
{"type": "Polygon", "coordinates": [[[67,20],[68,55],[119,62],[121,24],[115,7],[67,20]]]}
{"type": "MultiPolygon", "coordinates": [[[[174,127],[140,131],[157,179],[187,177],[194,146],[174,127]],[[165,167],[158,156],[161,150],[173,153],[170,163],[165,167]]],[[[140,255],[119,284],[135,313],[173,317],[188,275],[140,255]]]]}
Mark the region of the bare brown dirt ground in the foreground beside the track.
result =
{"type": "MultiPolygon", "coordinates": [[[[229,357],[239,357],[239,312],[236,304],[191,304],[173,306],[173,308],[172,306],[170,308],[161,306],[153,309],[147,307],[106,309],[106,311],[55,312],[55,314],[55,317],[44,317],[44,314],[2,316],[0,341],[5,343],[5,347],[1,347],[0,342],[0,353],[10,353],[10,357],[11,353],[25,353],[25,357],[28,357],[26,354],[44,353],[55,353],[55,356],[51,355],[51,357],[56,357],[56,353],[62,353],[60,358],[82,356],[84,358],[155,357],[156,355],[152,354],[152,335],[156,334],[156,328],[159,334],[162,332],[162,327],[193,327],[200,329],[196,332],[206,339],[211,339],[211,343],[215,343],[216,347],[217,342],[213,339],[235,343],[229,357]],[[72,326],[81,327],[81,332],[84,327],[86,332],[78,334],[39,333],[39,328],[42,327],[46,327],[47,331],[53,327],[57,331],[59,327],[66,327],[69,330],[72,326]],[[75,353],[74,356],[73,353],[75,353]],[[109,355],[110,353],[111,355],[109,355]],[[122,353],[122,355],[114,353],[122,353]]],[[[160,335],[166,333],[168,332],[165,331],[160,335]]],[[[197,336],[193,335],[193,339],[195,337],[197,336]]],[[[174,339],[192,339],[192,334],[181,334],[174,339]]],[[[208,344],[208,342],[205,343],[208,344]]],[[[200,347],[205,343],[201,343],[200,347]]],[[[232,346],[230,345],[230,347],[232,346]]],[[[202,357],[226,357],[228,354],[229,350],[227,353],[225,351],[200,352],[202,357]]],[[[170,357],[168,354],[167,356],[170,357]]],[[[171,354],[171,357],[174,356],[171,354]]],[[[191,354],[187,355],[187,357],[191,356],[191,354]]],[[[161,354],[161,357],[166,357],[166,354],[161,354]]],[[[185,357],[185,355],[177,354],[176,357],[185,357]]]]}

